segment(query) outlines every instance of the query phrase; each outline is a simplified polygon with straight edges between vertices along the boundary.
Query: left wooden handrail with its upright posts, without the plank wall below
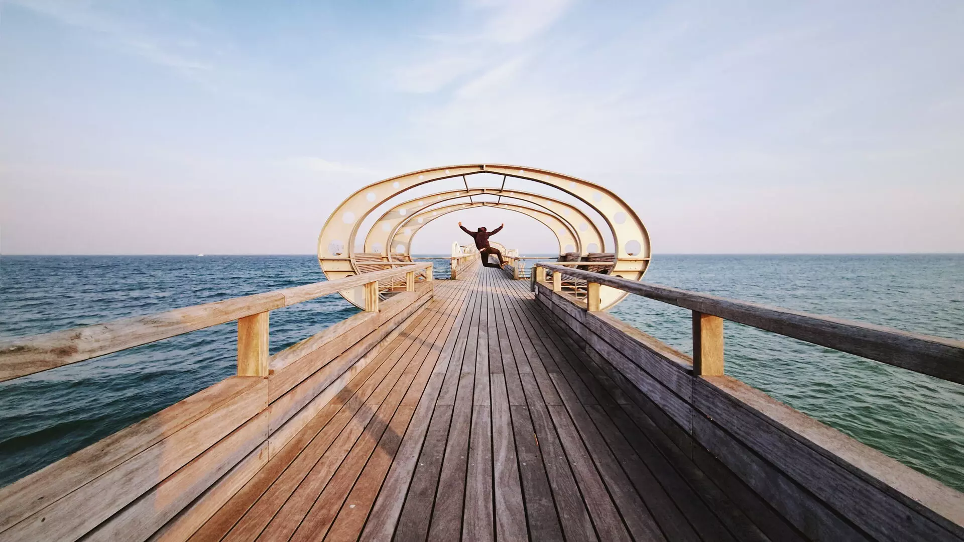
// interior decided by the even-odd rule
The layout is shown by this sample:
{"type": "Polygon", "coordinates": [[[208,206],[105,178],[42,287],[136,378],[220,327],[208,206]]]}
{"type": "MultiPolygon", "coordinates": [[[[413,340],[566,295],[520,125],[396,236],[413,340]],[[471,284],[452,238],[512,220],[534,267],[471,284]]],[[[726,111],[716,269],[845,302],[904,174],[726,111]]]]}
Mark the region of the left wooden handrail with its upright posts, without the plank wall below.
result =
{"type": "Polygon", "coordinates": [[[415,289],[415,272],[422,269],[426,270],[426,280],[431,280],[431,263],[409,263],[395,269],[336,281],[295,286],[33,337],[0,340],[0,382],[233,320],[238,321],[237,374],[266,376],[269,370],[269,312],[361,285],[365,288],[365,311],[378,311],[380,281],[404,278],[406,290],[411,291],[415,289]]]}

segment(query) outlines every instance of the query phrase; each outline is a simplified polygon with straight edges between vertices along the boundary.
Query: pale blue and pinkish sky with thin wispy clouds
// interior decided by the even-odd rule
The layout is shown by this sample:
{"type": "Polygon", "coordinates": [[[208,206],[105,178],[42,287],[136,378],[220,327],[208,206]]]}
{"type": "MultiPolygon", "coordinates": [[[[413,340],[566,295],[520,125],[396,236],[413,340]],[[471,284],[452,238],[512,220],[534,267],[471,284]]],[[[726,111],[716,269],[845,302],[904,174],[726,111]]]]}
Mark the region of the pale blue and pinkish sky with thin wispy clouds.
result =
{"type": "MultiPolygon", "coordinates": [[[[964,252],[964,3],[0,0],[0,252],[313,254],[463,163],[602,184],[654,255],[964,252]]],[[[490,228],[451,213],[413,252],[490,228]]],[[[494,238],[495,240],[495,238],[494,238]]]]}

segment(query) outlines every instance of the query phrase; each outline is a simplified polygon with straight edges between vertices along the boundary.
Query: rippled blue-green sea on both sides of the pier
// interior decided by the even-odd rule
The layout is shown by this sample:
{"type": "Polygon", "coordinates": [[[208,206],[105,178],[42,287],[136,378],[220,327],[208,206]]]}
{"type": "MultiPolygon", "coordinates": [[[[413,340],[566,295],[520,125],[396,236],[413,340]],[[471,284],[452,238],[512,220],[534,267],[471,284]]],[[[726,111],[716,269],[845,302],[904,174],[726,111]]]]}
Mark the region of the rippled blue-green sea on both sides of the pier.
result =
{"type": "MultiPolygon", "coordinates": [[[[4,256],[0,338],[322,280],[313,256],[4,256]]],[[[656,255],[646,281],[964,337],[964,255],[656,255]]],[[[273,311],[271,352],[356,312],[339,296],[273,311]]],[[[635,296],[611,312],[690,352],[689,312],[635,296]]],[[[235,334],[224,324],[0,383],[0,486],[230,376],[235,334]]],[[[732,322],[725,334],[728,374],[964,491],[964,386],[732,322]]]]}

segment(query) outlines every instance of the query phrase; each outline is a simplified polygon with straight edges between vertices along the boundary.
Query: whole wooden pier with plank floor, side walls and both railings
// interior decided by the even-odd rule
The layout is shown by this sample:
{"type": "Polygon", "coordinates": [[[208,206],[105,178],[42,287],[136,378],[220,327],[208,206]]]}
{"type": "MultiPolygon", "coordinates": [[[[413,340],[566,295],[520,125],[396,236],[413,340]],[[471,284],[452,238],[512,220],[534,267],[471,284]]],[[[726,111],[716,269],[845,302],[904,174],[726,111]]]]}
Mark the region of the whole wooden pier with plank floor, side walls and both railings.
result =
{"type": "MultiPolygon", "coordinates": [[[[751,304],[626,281],[702,303],[694,366],[587,310],[589,280],[619,279],[538,265],[530,285],[409,264],[0,345],[6,379],[239,321],[239,376],[0,489],[0,541],[964,539],[960,493],[723,375],[713,313],[751,304]],[[367,312],[268,358],[268,311],[356,285],[367,312]]],[[[863,328],[959,382],[959,341],[863,328]]]]}

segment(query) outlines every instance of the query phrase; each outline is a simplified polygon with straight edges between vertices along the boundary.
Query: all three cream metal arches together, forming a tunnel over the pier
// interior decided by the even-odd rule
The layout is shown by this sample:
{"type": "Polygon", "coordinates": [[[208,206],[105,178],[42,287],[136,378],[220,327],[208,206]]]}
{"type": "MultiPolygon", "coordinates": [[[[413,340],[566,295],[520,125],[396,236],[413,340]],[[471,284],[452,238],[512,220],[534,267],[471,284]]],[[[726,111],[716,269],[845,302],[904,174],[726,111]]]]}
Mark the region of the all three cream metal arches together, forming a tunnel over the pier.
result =
{"type": "MultiPolygon", "coordinates": [[[[649,234],[632,208],[613,192],[574,176],[536,168],[492,164],[420,170],[363,187],[340,203],[325,223],[318,236],[318,261],[328,280],[412,261],[412,241],[418,230],[444,214],[485,206],[519,212],[542,223],[552,230],[558,241],[559,259],[586,262],[587,265],[580,265],[582,269],[638,281],[649,266],[649,234]],[[469,176],[479,174],[502,176],[501,186],[469,188],[469,176]],[[363,232],[362,252],[356,252],[362,222],[377,209],[416,187],[458,177],[464,179],[465,190],[447,190],[392,204],[368,231],[363,232]],[[505,189],[508,178],[530,182],[533,186],[549,187],[549,192],[559,197],[505,189]],[[473,200],[473,197],[488,196],[497,200],[473,200]],[[560,199],[567,196],[575,198],[590,213],[560,199]],[[460,200],[469,202],[453,203],[460,200]],[[597,219],[594,220],[590,215],[595,215],[597,219]],[[611,246],[603,231],[608,232],[611,246]],[[588,262],[594,265],[588,265],[588,262]]],[[[502,238],[502,241],[504,243],[506,239],[502,238]]],[[[356,306],[363,307],[364,294],[361,288],[345,290],[341,294],[356,306]]],[[[621,290],[603,286],[600,291],[601,308],[608,309],[625,296],[626,293],[621,290]]]]}

